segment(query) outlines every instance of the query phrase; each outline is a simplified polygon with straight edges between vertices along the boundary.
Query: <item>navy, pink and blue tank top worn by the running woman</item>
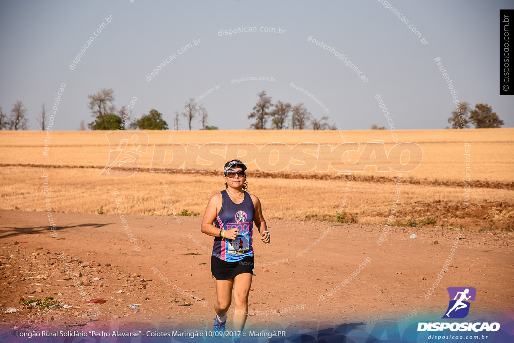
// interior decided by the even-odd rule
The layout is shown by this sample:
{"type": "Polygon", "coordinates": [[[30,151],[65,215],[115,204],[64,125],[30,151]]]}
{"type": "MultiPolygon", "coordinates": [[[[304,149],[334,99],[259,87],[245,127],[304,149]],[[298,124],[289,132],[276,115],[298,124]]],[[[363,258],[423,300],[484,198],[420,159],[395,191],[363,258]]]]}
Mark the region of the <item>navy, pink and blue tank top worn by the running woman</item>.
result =
{"type": "Polygon", "coordinates": [[[252,234],[255,207],[250,194],[245,192],[243,202],[235,204],[226,190],[221,193],[223,205],[214,220],[214,226],[224,230],[237,228],[239,236],[235,240],[222,237],[214,238],[212,255],[227,262],[236,262],[245,257],[253,256],[252,234]]]}

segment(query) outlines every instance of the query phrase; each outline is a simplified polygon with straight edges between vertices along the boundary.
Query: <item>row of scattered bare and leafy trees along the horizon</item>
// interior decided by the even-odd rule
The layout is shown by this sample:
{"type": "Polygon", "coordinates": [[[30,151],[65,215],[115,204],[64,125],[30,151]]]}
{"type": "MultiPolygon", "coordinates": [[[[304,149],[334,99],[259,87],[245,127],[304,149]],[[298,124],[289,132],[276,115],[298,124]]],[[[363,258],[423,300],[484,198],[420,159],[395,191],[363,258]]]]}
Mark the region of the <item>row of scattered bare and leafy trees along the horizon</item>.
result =
{"type": "MultiPolygon", "coordinates": [[[[313,129],[313,130],[336,130],[336,125],[329,125],[328,116],[316,118],[307,111],[303,103],[291,105],[290,103],[277,101],[271,102],[271,97],[266,95],[266,91],[257,94],[259,97],[253,112],[248,115],[248,119],[252,119],[251,129],[313,129]]],[[[116,109],[114,105],[115,96],[112,88],[101,89],[99,92],[88,96],[88,109],[94,118],[87,124],[91,130],[168,130],[168,123],[162,118],[162,114],[157,110],[150,110],[148,114],[143,114],[139,118],[132,118],[132,110],[127,106],[116,109]]],[[[208,113],[202,104],[195,99],[189,99],[183,110],[175,111],[173,118],[173,128],[178,129],[179,118],[184,117],[189,130],[192,123],[198,119],[201,128],[204,130],[217,130],[214,125],[208,125],[208,113]]],[[[45,130],[46,110],[45,104],[41,104],[40,114],[36,117],[41,130],[45,130]]],[[[448,122],[451,123],[453,129],[469,128],[473,124],[475,128],[500,128],[504,125],[504,121],[500,119],[497,113],[493,112],[492,107],[488,104],[476,104],[475,108],[467,102],[462,102],[460,107],[454,110],[448,122]]],[[[16,101],[9,115],[5,114],[0,107],[0,130],[27,130],[28,116],[27,109],[21,100],[16,101]]],[[[379,127],[373,124],[372,130],[384,130],[385,127],[379,127]]],[[[86,130],[85,121],[80,123],[80,130],[86,130]]]]}

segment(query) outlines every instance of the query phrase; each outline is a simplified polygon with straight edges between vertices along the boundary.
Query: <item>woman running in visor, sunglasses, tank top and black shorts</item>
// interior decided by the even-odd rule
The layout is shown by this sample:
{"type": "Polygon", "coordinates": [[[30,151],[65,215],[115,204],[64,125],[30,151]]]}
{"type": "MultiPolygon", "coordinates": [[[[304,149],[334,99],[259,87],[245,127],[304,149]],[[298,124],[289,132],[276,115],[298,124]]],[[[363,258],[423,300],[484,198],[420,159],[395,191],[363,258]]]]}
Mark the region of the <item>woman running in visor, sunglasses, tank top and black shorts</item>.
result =
{"type": "Polygon", "coordinates": [[[214,236],[211,272],[216,287],[215,331],[225,331],[227,312],[234,290],[234,331],[242,332],[248,314],[248,294],[253,277],[253,223],[261,240],[270,236],[259,199],[248,193],[246,165],[233,159],[225,164],[224,191],[211,196],[201,222],[201,231],[214,236]]]}

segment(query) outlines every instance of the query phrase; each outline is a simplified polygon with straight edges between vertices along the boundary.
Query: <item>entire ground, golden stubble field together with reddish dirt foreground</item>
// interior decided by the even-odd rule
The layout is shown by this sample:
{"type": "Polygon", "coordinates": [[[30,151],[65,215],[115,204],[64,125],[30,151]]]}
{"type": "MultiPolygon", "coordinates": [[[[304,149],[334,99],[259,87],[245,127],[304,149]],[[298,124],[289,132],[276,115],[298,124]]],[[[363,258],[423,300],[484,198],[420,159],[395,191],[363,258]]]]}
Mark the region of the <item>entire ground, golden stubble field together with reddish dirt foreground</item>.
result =
{"type": "MultiPolygon", "coordinates": [[[[256,163],[249,163],[249,191],[263,204],[272,242],[265,245],[254,238],[256,266],[245,330],[298,332],[381,320],[403,320],[401,328],[406,328],[421,318],[440,318],[448,305],[444,288],[462,285],[480,292],[470,321],[488,316],[489,321],[499,318],[503,323],[512,317],[504,294],[514,280],[514,160],[509,153],[513,133],[514,129],[397,131],[400,141],[423,149],[419,167],[403,172],[401,179],[396,172],[377,172],[375,167],[351,177],[335,170],[263,172],[259,163],[273,163],[277,156],[255,153],[256,163]],[[469,182],[465,143],[471,145],[469,182]],[[468,210],[463,208],[466,184],[468,210]],[[398,204],[393,207],[395,195],[398,204]],[[496,201],[501,206],[481,207],[496,201]],[[392,208],[396,227],[366,225],[385,224],[392,208]],[[497,230],[489,230],[493,228],[497,230]],[[409,238],[411,233],[416,239],[409,238]],[[379,238],[384,235],[382,243],[379,238]],[[455,244],[449,273],[443,273],[434,289],[455,244]],[[371,263],[346,284],[363,261],[371,263]],[[430,299],[427,292],[433,292],[430,299]],[[415,312],[417,317],[405,322],[415,312]]],[[[139,154],[139,165],[111,171],[132,176],[98,177],[119,153],[113,153],[119,140],[111,138],[109,145],[105,132],[52,132],[44,156],[44,133],[0,131],[0,340],[12,338],[14,326],[29,331],[80,325],[73,330],[84,332],[212,328],[212,237],[200,232],[200,217],[178,214],[201,216],[209,197],[224,188],[223,178],[220,172],[150,171],[154,143],[360,143],[358,152],[342,156],[341,163],[356,162],[368,141],[384,141],[385,151],[393,145],[391,133],[383,130],[145,134],[149,141],[139,154]],[[54,230],[50,222],[55,222],[54,230]],[[47,296],[66,307],[20,304],[47,296]],[[98,308],[85,303],[94,298],[106,302],[98,308]],[[138,304],[140,310],[131,310],[130,304],[138,304]],[[12,308],[16,312],[6,313],[12,308]]],[[[389,160],[383,160],[380,144],[375,147],[364,158],[371,157],[371,162],[376,157],[370,164],[384,168],[389,160]]],[[[318,166],[329,159],[321,156],[318,166]]],[[[167,155],[161,162],[170,160],[167,155]]],[[[232,316],[230,312],[228,330],[232,316]]]]}

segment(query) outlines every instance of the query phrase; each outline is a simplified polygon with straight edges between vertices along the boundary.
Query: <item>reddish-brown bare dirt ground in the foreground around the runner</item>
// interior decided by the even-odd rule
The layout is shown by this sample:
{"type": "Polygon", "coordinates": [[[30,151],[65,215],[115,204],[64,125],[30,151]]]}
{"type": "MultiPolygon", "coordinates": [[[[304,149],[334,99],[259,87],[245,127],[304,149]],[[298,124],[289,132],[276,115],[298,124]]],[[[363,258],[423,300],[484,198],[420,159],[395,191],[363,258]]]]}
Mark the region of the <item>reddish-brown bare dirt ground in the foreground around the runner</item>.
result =
{"type": "MultiPolygon", "coordinates": [[[[136,246],[119,216],[53,218],[52,236],[46,213],[0,210],[0,331],[76,324],[84,326],[67,329],[212,328],[212,238],[201,233],[201,218],[128,216],[136,246]],[[72,307],[20,304],[47,296],[72,307]],[[95,298],[106,302],[84,303],[95,298]],[[17,312],[5,313],[9,308],[17,312]]],[[[514,284],[512,232],[391,228],[379,245],[379,226],[270,220],[268,227],[271,244],[254,241],[259,265],[247,330],[398,322],[413,311],[409,321],[433,320],[448,306],[449,286],[476,288],[469,320],[514,317],[514,305],[505,298],[514,284]],[[426,299],[459,234],[449,272],[426,299]],[[357,277],[348,279],[357,269],[357,277]]]]}

